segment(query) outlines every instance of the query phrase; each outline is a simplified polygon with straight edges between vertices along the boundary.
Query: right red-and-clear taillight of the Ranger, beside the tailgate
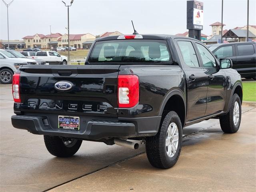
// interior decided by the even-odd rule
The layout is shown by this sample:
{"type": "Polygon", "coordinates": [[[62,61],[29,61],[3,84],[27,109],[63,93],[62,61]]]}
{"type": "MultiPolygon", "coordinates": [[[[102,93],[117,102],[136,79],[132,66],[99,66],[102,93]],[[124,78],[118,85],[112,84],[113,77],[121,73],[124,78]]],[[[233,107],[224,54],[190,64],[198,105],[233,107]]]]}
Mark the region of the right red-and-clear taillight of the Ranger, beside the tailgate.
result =
{"type": "Polygon", "coordinates": [[[136,75],[118,75],[118,107],[130,108],[139,102],[139,78],[136,75]]]}

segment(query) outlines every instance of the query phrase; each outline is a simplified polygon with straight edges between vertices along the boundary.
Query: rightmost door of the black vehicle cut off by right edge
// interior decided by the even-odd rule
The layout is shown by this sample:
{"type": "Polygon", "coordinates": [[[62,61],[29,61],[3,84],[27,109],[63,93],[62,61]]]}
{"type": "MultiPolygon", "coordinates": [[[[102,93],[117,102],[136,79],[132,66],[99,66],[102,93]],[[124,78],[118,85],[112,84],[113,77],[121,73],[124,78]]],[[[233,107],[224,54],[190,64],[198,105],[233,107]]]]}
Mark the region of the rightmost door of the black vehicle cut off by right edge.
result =
{"type": "Polygon", "coordinates": [[[253,43],[236,44],[234,67],[242,77],[256,76],[256,46],[253,43]]]}

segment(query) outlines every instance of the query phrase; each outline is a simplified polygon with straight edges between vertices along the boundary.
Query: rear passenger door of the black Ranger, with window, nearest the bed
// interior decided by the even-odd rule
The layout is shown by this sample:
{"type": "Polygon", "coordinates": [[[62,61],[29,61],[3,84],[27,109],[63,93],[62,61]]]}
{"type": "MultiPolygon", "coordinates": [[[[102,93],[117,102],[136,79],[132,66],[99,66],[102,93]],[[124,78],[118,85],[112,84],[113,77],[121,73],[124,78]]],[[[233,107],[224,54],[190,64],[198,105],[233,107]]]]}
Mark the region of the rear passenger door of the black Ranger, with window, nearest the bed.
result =
{"type": "Polygon", "coordinates": [[[184,61],[184,72],[187,78],[188,120],[204,116],[206,111],[206,95],[208,77],[190,40],[177,40],[184,61]]]}

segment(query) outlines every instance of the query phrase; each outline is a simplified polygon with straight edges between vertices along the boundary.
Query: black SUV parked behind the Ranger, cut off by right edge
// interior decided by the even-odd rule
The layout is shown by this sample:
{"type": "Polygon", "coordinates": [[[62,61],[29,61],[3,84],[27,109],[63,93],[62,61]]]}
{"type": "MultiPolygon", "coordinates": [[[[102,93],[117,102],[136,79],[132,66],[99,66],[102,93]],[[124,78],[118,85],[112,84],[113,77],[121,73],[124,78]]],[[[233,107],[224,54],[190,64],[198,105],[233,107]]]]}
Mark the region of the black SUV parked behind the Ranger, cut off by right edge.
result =
{"type": "Polygon", "coordinates": [[[209,49],[217,58],[230,58],[242,78],[256,80],[256,42],[216,44],[209,49]]]}

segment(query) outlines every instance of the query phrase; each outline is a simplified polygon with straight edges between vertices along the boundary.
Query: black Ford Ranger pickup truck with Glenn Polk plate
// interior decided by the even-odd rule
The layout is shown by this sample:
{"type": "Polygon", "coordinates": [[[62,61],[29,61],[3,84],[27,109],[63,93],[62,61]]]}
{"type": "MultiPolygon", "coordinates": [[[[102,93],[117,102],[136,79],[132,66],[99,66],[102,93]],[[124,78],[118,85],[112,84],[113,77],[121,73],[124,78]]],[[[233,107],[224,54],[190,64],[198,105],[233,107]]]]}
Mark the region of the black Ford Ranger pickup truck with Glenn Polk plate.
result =
{"type": "Polygon", "coordinates": [[[170,168],[182,128],[219,118],[226,133],[241,121],[241,76],[200,41],[171,35],[98,38],[83,66],[20,66],[13,77],[12,125],[44,135],[48,151],[74,155],[82,140],[138,148],[170,168]]]}

